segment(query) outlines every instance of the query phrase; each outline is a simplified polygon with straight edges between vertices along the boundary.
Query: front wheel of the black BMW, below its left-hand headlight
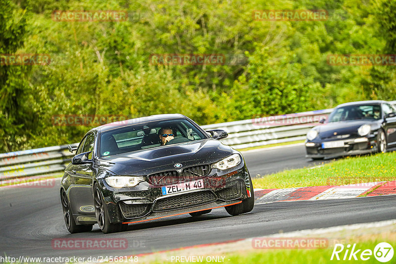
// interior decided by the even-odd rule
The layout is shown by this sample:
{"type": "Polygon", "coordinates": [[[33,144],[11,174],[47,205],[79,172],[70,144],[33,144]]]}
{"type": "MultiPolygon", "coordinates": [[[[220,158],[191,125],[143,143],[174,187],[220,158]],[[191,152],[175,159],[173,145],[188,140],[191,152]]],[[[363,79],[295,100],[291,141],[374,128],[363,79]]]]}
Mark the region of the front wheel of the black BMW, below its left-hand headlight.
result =
{"type": "Polygon", "coordinates": [[[128,224],[110,222],[107,211],[104,208],[103,197],[97,183],[95,183],[94,187],[94,205],[96,220],[98,221],[100,230],[104,234],[126,231],[128,229],[128,224]]]}

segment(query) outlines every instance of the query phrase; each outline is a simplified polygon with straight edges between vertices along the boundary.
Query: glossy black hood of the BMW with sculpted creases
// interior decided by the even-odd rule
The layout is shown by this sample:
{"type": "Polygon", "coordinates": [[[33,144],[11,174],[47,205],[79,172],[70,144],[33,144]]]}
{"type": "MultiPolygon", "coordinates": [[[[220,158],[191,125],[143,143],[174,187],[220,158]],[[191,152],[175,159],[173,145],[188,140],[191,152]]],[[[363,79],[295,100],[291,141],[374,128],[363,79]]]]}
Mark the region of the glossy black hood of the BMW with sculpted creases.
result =
{"type": "Polygon", "coordinates": [[[219,140],[208,138],[197,141],[160,146],[150,149],[101,157],[98,165],[116,175],[144,176],[164,170],[175,170],[195,164],[209,164],[231,155],[231,147],[219,140]]]}

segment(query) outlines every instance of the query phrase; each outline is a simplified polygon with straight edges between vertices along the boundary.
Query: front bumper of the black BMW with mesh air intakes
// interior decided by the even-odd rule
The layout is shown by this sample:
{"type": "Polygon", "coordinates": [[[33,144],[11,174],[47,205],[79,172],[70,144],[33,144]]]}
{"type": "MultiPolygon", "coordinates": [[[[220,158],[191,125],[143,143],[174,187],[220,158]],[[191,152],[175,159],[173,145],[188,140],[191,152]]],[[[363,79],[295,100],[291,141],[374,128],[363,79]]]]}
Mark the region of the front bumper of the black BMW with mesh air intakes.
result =
{"type": "Polygon", "coordinates": [[[146,181],[131,188],[111,188],[104,181],[100,185],[110,222],[142,222],[224,207],[250,197],[246,166],[233,169],[224,174],[214,169],[201,178],[204,188],[168,195],[146,181]]]}

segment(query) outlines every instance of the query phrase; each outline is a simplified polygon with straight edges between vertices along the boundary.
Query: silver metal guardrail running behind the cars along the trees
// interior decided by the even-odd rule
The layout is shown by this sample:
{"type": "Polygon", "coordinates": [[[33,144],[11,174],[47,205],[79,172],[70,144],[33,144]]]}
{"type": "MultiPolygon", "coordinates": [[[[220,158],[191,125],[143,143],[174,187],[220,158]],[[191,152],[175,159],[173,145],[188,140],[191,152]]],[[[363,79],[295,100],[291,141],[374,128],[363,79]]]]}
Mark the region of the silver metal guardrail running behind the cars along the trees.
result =
{"type": "MultiPolygon", "coordinates": [[[[396,103],[393,101],[392,103],[396,103]]],[[[237,149],[304,140],[318,121],[331,113],[324,109],[297,114],[258,117],[235,122],[201,126],[204,130],[222,129],[229,136],[221,141],[237,149]],[[297,124],[297,125],[296,125],[297,124]]],[[[71,144],[77,146],[78,143],[71,144]]],[[[59,175],[70,163],[67,145],[0,154],[0,184],[15,178],[25,179],[59,175]]]]}

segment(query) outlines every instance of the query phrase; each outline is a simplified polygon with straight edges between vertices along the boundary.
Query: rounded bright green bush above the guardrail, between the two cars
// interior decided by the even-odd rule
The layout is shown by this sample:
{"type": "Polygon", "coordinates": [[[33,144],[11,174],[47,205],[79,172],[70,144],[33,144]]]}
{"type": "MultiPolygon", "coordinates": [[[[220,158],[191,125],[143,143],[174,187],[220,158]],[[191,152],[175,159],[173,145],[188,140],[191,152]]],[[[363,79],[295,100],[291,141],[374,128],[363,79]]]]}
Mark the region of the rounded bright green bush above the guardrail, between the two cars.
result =
{"type": "Polygon", "coordinates": [[[245,75],[232,89],[229,107],[235,108],[235,118],[296,113],[316,107],[323,94],[320,84],[301,74],[301,64],[291,63],[290,52],[284,51],[281,58],[271,60],[267,51],[262,48],[249,56],[245,75]]]}

